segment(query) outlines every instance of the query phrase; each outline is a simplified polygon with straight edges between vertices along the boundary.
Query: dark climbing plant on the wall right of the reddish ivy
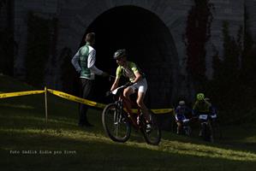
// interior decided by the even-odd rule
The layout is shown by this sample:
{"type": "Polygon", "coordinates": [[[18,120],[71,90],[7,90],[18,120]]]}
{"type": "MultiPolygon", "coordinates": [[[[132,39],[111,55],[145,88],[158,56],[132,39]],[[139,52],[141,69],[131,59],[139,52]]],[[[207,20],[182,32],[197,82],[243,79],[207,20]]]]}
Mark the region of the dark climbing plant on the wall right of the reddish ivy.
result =
{"type": "Polygon", "coordinates": [[[239,91],[241,89],[239,81],[240,58],[241,58],[241,35],[239,29],[237,38],[230,36],[229,23],[223,22],[223,59],[218,54],[213,56],[212,67],[214,69],[213,80],[211,82],[211,97],[219,102],[218,106],[234,109],[234,103],[240,102],[239,91]]]}

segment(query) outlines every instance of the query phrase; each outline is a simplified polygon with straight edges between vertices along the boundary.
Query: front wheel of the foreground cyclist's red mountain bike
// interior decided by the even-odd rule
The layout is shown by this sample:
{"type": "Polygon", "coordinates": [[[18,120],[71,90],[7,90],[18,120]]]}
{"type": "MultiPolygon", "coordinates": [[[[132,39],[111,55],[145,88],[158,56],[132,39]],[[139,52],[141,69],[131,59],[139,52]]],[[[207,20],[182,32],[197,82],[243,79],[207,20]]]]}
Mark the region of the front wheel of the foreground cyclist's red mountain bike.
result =
{"type": "Polygon", "coordinates": [[[102,113],[102,123],[105,133],[116,142],[126,142],[131,135],[131,125],[123,110],[115,103],[108,104],[102,113]]]}

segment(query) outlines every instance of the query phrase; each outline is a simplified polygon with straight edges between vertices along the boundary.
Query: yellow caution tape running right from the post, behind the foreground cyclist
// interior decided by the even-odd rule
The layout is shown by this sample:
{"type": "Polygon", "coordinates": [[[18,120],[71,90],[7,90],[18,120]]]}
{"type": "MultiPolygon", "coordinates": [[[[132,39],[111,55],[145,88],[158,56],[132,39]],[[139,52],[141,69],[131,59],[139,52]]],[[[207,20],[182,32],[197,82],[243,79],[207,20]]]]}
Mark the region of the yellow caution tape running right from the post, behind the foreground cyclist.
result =
{"type": "MultiPolygon", "coordinates": [[[[52,94],[54,94],[58,97],[63,97],[65,99],[71,100],[73,102],[84,103],[86,105],[101,108],[101,109],[104,109],[104,107],[106,106],[106,104],[92,102],[90,100],[86,100],[81,97],[75,97],[73,95],[70,95],[70,94],[62,92],[62,91],[55,91],[55,90],[51,90],[51,89],[47,89],[47,91],[51,92],[52,94]]],[[[173,109],[151,109],[151,110],[154,114],[167,114],[167,113],[171,113],[173,111],[173,109]]],[[[132,109],[132,111],[134,113],[136,113],[137,109],[132,109]]]]}

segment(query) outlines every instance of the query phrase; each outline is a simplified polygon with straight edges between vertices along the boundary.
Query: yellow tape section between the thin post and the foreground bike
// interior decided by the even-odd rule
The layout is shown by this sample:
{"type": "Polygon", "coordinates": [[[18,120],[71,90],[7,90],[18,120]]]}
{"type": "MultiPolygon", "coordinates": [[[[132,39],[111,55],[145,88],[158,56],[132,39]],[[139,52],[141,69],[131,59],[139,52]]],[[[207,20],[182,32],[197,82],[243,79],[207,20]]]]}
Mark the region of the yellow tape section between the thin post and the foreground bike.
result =
{"type": "Polygon", "coordinates": [[[66,98],[66,99],[74,101],[74,102],[84,103],[86,105],[101,108],[101,109],[104,109],[104,107],[105,107],[105,104],[103,104],[103,103],[92,102],[90,100],[86,100],[86,99],[80,98],[80,97],[75,97],[73,95],[70,95],[70,94],[62,92],[62,91],[55,91],[55,90],[51,90],[51,89],[47,89],[47,91],[51,92],[52,94],[54,94],[58,97],[63,97],[63,98],[66,98]]]}

